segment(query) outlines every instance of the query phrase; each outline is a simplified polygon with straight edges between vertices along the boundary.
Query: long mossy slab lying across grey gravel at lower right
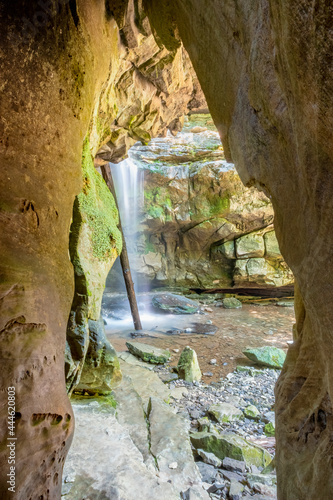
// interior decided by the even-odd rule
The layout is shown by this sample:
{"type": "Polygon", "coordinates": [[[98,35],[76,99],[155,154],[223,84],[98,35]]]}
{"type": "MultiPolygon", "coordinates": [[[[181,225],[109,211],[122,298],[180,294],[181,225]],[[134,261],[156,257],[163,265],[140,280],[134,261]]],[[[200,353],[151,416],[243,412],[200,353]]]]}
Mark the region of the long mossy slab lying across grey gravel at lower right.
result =
{"type": "Polygon", "coordinates": [[[255,465],[256,467],[266,467],[272,460],[266,450],[230,432],[221,434],[196,432],[190,437],[195,449],[214,453],[221,460],[228,457],[244,461],[247,466],[255,465]]]}

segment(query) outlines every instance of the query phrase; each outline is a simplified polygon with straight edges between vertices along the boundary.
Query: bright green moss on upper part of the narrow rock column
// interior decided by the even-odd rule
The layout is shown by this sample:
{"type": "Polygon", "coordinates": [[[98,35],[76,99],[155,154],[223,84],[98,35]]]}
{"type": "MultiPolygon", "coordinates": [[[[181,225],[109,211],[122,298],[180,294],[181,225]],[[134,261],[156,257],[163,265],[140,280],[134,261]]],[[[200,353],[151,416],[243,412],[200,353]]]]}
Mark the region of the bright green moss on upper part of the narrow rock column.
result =
{"type": "Polygon", "coordinates": [[[116,247],[118,254],[122,249],[117,227],[119,216],[112,194],[94,168],[88,139],[83,144],[82,173],[83,189],[77,196],[82,221],[87,222],[92,230],[94,256],[106,260],[111,249],[116,247]]]}

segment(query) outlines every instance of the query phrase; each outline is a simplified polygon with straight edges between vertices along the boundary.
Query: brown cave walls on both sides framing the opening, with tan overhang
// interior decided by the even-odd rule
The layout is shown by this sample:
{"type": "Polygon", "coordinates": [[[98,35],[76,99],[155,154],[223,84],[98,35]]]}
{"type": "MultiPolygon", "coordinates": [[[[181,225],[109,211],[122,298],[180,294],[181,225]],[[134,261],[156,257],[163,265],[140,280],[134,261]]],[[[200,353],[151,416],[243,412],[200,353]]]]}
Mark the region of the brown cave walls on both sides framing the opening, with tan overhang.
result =
{"type": "MultiPolygon", "coordinates": [[[[329,498],[332,6],[324,0],[144,5],[158,49],[152,38],[142,46],[151,35],[139,1],[71,0],[46,9],[37,1],[1,2],[1,387],[16,388],[16,498],[60,495],[73,431],[63,353],[74,291],[68,235],[82,188],[83,139],[88,133],[98,164],[122,157],[124,143],[148,140],[150,129],[180,127],[197,87],[195,80],[188,87],[186,73],[180,87],[161,75],[167,61],[185,71],[178,35],[227,159],[247,186],[272,200],[279,244],[298,282],[295,343],[277,386],[279,498],[329,498]],[[161,56],[155,68],[148,49],[161,56]],[[129,58],[123,76],[121,58],[129,58]],[[117,92],[118,103],[107,98],[117,92]],[[175,94],[185,104],[173,107],[175,94]],[[133,109],[119,107],[128,100],[133,109]]],[[[5,406],[0,416],[5,442],[5,406]]],[[[2,449],[2,496],[7,466],[2,449]]]]}

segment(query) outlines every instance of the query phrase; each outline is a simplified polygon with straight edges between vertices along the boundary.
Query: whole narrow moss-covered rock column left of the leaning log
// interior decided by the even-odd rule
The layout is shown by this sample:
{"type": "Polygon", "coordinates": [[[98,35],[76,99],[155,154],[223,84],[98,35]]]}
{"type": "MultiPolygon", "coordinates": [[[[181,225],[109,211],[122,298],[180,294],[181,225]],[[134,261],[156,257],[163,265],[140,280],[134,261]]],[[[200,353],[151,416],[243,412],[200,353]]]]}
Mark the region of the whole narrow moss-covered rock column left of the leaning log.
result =
{"type": "MultiPolygon", "coordinates": [[[[75,277],[74,299],[67,325],[67,342],[75,365],[74,369],[73,366],[69,369],[67,363],[66,380],[69,392],[72,392],[80,381],[88,350],[89,359],[95,359],[94,363],[87,360],[90,368],[97,363],[96,377],[99,382],[91,382],[96,391],[97,387],[101,386],[101,374],[104,373],[106,385],[110,386],[109,379],[113,373],[118,377],[119,368],[116,361],[115,364],[110,362],[111,357],[116,359],[116,354],[108,340],[104,337],[101,341],[102,333],[96,337],[94,332],[97,327],[90,328],[88,324],[89,321],[99,322],[105,280],[121,252],[122,239],[117,227],[119,217],[114,198],[102,176],[94,168],[87,140],[83,144],[82,175],[83,186],[74,201],[69,238],[69,252],[75,277]],[[99,340],[96,341],[96,338],[99,340]],[[101,355],[100,341],[108,353],[107,356],[101,355]]],[[[67,357],[70,359],[69,355],[67,357]]],[[[88,378],[91,380],[91,374],[88,378]]]]}

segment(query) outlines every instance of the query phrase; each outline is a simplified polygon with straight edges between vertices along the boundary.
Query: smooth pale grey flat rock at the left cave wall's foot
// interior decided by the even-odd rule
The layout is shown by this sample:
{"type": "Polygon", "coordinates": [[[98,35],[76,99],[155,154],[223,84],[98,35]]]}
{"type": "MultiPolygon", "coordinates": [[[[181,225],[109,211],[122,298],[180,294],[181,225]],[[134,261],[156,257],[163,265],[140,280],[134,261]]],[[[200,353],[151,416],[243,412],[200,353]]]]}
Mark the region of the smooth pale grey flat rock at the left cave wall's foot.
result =
{"type": "MultiPolygon", "coordinates": [[[[144,370],[149,374],[147,370],[144,370]]],[[[179,500],[179,491],[150,471],[141,452],[113,413],[100,405],[72,401],[76,426],[65,466],[66,500],[158,498],[179,500]],[[92,432],[93,429],[93,432],[92,432]]]]}

